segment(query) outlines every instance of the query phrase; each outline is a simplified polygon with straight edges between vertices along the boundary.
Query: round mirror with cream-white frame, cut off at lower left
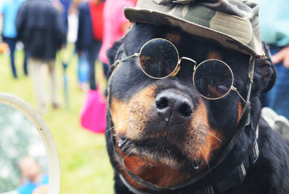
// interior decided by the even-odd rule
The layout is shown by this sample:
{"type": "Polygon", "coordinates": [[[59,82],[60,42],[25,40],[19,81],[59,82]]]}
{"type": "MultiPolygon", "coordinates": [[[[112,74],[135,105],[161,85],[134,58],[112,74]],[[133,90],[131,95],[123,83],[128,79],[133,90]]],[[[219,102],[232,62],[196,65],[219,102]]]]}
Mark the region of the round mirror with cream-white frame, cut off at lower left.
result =
{"type": "Polygon", "coordinates": [[[0,92],[0,194],[60,192],[60,163],[53,137],[24,100],[0,92]]]}

